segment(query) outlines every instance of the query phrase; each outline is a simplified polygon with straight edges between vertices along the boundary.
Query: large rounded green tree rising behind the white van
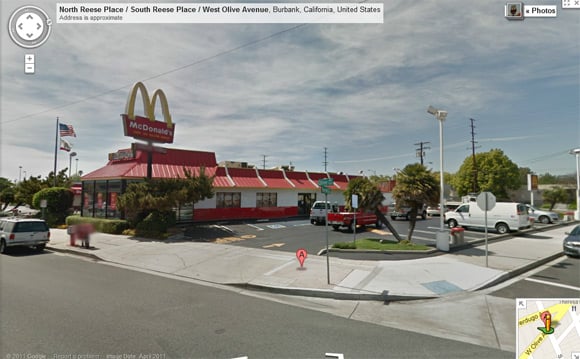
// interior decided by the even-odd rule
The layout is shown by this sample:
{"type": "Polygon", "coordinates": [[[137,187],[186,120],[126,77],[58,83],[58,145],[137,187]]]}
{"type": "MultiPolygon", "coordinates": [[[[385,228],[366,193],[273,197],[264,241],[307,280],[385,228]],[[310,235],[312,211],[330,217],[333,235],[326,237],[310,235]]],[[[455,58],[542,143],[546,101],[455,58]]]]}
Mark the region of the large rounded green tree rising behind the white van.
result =
{"type": "MultiPolygon", "coordinates": [[[[493,193],[496,198],[508,200],[508,190],[520,187],[520,171],[502,150],[493,149],[489,152],[477,153],[477,183],[480,191],[493,193]]],[[[467,157],[453,178],[453,187],[460,196],[471,192],[473,178],[473,162],[467,157]]]]}

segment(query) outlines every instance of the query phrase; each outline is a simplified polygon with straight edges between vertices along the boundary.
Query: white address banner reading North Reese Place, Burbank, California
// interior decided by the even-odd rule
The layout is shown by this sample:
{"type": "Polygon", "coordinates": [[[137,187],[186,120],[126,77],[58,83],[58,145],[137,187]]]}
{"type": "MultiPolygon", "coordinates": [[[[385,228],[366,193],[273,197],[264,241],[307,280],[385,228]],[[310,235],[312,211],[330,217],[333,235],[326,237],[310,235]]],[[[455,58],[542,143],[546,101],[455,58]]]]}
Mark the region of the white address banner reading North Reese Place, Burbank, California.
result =
{"type": "Polygon", "coordinates": [[[383,3],[57,3],[59,24],[382,24],[383,3]]]}

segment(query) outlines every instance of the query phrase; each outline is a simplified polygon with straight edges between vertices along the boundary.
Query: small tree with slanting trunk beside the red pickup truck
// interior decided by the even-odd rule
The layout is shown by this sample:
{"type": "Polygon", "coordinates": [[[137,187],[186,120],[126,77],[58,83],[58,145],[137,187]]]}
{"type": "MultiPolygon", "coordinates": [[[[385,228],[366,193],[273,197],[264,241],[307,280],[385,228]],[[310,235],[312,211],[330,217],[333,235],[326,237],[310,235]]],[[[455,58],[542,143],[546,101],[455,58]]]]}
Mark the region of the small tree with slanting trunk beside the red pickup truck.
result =
{"type": "Polygon", "coordinates": [[[389,222],[387,217],[381,211],[382,202],[385,199],[377,183],[372,182],[366,177],[357,177],[350,182],[344,191],[344,200],[346,207],[352,210],[352,195],[358,195],[358,206],[363,211],[372,211],[377,218],[393,233],[397,241],[401,241],[401,237],[393,225],[389,222]]]}

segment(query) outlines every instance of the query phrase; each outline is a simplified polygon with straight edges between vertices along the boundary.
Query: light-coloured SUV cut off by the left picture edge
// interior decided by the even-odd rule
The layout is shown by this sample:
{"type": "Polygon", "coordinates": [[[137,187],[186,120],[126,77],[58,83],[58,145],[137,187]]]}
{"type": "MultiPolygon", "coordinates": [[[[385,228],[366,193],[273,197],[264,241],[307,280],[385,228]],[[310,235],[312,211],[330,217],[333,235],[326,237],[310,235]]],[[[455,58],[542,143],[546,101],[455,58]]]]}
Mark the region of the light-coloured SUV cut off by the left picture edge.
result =
{"type": "Polygon", "coordinates": [[[50,230],[42,219],[2,218],[0,219],[0,253],[9,247],[34,247],[43,251],[50,240],[50,230]]]}

